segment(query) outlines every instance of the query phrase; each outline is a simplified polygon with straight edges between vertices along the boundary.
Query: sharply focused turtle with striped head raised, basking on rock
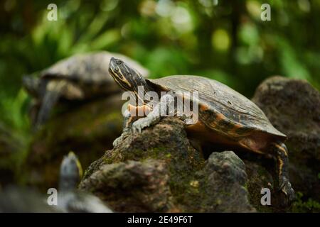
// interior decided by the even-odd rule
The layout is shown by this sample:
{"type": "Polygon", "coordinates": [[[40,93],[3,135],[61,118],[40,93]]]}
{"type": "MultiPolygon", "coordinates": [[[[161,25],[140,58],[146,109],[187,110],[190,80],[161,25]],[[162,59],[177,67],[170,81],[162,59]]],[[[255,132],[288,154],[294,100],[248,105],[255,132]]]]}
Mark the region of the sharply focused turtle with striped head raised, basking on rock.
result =
{"type": "Polygon", "coordinates": [[[138,70],[114,57],[110,60],[109,71],[122,89],[133,92],[142,101],[140,105],[128,105],[127,111],[124,111],[123,133],[114,140],[114,146],[127,138],[129,133],[141,133],[144,128],[159,122],[163,116],[160,113],[166,113],[169,104],[174,101],[170,92],[183,96],[182,99],[191,99],[191,96],[184,96],[188,92],[198,92],[198,121],[186,124],[188,137],[196,140],[200,146],[206,143],[232,145],[274,157],[277,160],[279,190],[289,202],[296,198],[289,182],[288,150],[284,144],[287,136],[274,128],[264,112],[250,99],[208,77],[171,75],[144,79],[138,70]],[[139,93],[139,87],[143,87],[144,92],[139,93]],[[159,96],[161,93],[165,94],[158,104],[151,106],[144,99],[147,92],[156,92],[159,96]],[[132,107],[136,111],[143,109],[145,114],[140,117],[132,116],[132,111],[129,111],[132,107]]]}

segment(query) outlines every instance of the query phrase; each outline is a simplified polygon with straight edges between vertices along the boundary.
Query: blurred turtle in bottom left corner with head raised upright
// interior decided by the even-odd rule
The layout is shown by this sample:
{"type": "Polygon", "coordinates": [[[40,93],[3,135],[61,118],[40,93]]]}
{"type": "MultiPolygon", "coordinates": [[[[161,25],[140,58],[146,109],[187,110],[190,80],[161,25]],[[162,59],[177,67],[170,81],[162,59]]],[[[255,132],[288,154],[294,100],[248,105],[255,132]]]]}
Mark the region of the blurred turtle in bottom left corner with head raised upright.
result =
{"type": "Polygon", "coordinates": [[[60,184],[57,206],[48,205],[46,196],[36,190],[6,187],[0,190],[0,212],[52,213],[110,213],[112,212],[99,198],[77,190],[82,177],[82,167],[73,152],[63,158],[60,166],[60,184]]]}

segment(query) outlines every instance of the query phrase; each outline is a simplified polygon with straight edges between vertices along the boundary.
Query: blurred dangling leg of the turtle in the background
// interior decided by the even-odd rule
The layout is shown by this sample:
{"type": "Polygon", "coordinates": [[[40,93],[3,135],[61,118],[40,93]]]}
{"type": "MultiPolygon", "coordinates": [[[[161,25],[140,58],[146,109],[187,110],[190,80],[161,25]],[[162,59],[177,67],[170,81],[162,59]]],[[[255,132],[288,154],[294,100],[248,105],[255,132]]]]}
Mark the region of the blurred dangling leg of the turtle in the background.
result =
{"type": "Polygon", "coordinates": [[[50,116],[50,111],[53,109],[53,106],[57,103],[63,89],[65,89],[65,81],[51,81],[46,85],[46,92],[41,101],[41,107],[36,117],[35,129],[37,130],[43,123],[46,123],[50,116]]]}

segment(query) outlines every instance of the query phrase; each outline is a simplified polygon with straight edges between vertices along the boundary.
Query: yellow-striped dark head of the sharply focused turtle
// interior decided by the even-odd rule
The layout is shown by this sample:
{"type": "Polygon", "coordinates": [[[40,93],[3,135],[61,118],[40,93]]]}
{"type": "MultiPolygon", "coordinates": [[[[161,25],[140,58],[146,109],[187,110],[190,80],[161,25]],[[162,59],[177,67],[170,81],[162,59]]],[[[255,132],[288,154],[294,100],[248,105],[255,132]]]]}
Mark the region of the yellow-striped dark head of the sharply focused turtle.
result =
{"type": "Polygon", "coordinates": [[[148,90],[144,77],[122,60],[111,57],[109,72],[114,81],[125,91],[136,93],[139,86],[143,86],[145,90],[148,90]]]}

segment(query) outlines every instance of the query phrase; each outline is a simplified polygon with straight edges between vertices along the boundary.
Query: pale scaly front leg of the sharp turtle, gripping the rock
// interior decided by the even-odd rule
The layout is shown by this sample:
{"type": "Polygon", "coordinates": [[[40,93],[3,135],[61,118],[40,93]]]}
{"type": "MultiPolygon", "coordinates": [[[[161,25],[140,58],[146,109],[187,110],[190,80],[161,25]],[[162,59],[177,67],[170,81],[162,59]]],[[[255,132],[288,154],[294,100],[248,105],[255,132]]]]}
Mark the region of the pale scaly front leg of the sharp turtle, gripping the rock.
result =
{"type": "MultiPolygon", "coordinates": [[[[166,112],[169,106],[174,102],[174,97],[170,94],[161,96],[161,99],[152,111],[144,118],[139,118],[137,121],[134,121],[132,124],[132,131],[134,133],[141,133],[143,128],[149,127],[158,123],[161,119],[161,116],[167,116],[166,112]]],[[[173,111],[170,110],[169,111],[173,111]]],[[[170,113],[169,113],[170,114],[170,113]]]]}

